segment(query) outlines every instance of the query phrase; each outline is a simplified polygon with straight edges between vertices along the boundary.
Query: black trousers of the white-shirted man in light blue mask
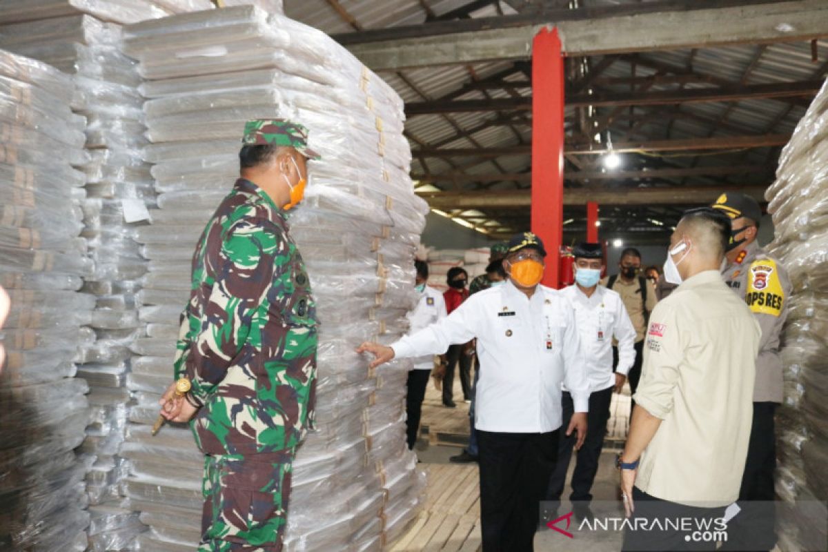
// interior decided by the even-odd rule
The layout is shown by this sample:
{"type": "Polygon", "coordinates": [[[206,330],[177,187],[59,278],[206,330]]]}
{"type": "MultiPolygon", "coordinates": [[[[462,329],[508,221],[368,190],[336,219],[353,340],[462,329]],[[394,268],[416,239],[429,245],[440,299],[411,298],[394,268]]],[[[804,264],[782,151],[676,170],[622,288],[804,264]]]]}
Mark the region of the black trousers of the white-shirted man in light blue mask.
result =
{"type": "MultiPolygon", "coordinates": [[[[586,415],[586,439],[584,445],[577,453],[575,471],[572,473],[572,494],[570,501],[592,500],[590,489],[595,482],[595,474],[598,473],[598,462],[601,458],[601,449],[604,448],[604,433],[609,420],[609,402],[613,399],[614,387],[608,387],[604,391],[590,393],[590,411],[586,415]]],[[[575,413],[575,405],[569,392],[563,394],[563,425],[561,430],[560,444],[558,444],[558,461],[555,464],[555,471],[549,479],[549,487],[546,490],[547,501],[560,501],[561,494],[566,486],[566,471],[569,469],[572,450],[575,449],[577,435],[566,436],[566,428],[569,427],[572,415],[575,413]]]]}

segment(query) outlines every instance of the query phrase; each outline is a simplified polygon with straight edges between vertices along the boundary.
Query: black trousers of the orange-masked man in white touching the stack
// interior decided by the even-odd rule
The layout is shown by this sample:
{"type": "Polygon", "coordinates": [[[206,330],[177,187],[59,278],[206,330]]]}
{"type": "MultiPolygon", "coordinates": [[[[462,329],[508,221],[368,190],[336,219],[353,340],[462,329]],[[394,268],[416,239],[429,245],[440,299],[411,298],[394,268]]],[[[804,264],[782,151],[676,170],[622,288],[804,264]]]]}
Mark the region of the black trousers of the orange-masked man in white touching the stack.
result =
{"type": "Polygon", "coordinates": [[[532,552],[541,500],[558,454],[560,430],[477,430],[483,552],[532,552]]]}

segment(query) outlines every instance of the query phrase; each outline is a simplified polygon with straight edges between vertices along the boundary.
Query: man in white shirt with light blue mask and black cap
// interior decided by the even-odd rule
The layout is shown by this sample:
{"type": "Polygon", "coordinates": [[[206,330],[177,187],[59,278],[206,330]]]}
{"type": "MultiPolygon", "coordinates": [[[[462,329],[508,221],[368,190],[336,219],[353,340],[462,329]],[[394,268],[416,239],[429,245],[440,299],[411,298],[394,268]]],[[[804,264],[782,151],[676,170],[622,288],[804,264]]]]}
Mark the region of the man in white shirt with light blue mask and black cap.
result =
{"type": "MultiPolygon", "coordinates": [[[[590,489],[598,473],[604,433],[609,420],[609,402],[613,390],[620,392],[630,367],[635,362],[636,331],[623,305],[621,295],[599,286],[604,270],[603,252],[599,243],[580,243],[572,252],[575,257],[575,285],[562,291],[575,308],[575,324],[583,348],[584,369],[590,383],[589,430],[584,446],[578,451],[575,471],[572,473],[572,502],[575,516],[590,516],[592,500],[590,489]],[[613,373],[613,338],[618,341],[619,364],[613,373]]],[[[566,425],[574,412],[569,391],[563,393],[563,423],[566,425]]],[[[566,470],[575,439],[561,438],[558,462],[549,482],[546,500],[559,502],[566,485],[566,470]]]]}

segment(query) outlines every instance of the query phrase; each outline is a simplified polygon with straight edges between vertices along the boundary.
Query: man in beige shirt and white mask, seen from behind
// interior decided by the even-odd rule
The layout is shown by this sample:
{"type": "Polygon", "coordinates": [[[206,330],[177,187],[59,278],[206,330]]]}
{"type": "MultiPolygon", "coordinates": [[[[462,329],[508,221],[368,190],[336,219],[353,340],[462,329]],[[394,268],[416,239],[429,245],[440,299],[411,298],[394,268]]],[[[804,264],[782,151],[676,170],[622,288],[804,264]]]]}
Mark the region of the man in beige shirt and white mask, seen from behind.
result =
{"type": "Polygon", "coordinates": [[[681,285],[650,317],[619,457],[628,516],[664,530],[627,527],[624,550],[715,550],[696,541],[699,527],[726,533],[720,516],[739,497],[761,330],[721,280],[729,234],[729,218],[710,208],[688,211],[672,234],[664,272],[681,285]],[[675,528],[665,517],[691,521],[675,528]]]}

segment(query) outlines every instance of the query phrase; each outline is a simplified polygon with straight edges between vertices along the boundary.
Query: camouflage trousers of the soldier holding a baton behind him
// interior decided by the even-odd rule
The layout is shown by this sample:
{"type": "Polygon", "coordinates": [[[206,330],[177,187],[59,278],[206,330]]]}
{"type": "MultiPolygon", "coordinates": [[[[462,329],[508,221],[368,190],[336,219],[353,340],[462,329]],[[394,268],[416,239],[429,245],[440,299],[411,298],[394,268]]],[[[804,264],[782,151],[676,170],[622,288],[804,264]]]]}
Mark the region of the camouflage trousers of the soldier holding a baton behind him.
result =
{"type": "Polygon", "coordinates": [[[200,552],[280,552],[291,492],[292,454],[205,457],[200,552]]]}

